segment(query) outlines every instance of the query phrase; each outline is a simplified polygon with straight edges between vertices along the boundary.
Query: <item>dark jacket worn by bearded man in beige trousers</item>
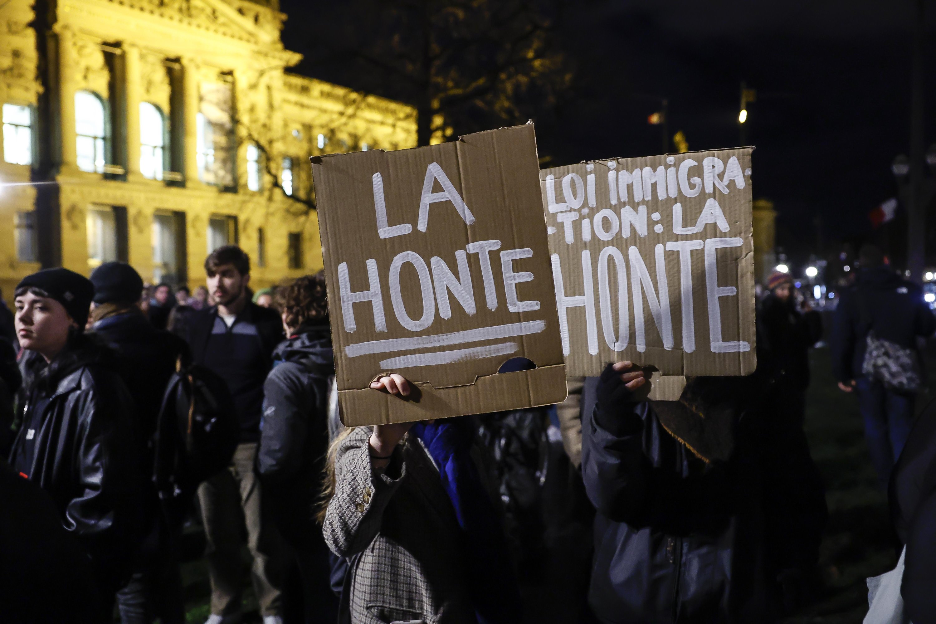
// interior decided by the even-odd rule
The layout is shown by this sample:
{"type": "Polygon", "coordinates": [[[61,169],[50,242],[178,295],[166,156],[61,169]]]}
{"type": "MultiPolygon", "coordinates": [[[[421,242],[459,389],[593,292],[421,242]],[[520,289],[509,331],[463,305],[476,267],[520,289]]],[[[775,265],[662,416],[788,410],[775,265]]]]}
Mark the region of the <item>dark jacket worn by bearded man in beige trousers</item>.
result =
{"type": "Polygon", "coordinates": [[[198,311],[189,320],[192,358],[227,382],[241,423],[241,442],[256,442],[259,437],[263,385],[272,367],[273,349],[282,340],[279,313],[250,301],[232,327],[218,316],[217,306],[198,311]]]}

